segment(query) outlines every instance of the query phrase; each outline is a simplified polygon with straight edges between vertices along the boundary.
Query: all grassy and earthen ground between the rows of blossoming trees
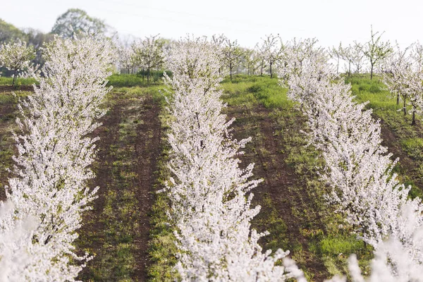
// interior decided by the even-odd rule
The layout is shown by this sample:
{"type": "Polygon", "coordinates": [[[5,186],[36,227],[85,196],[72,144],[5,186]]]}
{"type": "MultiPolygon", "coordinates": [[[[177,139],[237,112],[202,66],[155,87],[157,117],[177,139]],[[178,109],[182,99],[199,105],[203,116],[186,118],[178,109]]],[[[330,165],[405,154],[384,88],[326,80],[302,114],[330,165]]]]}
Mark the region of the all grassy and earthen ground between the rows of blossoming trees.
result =
{"type": "MultiPolygon", "coordinates": [[[[410,116],[397,110],[396,99],[384,90],[379,78],[365,75],[345,78],[357,102],[366,102],[381,120],[384,145],[400,157],[396,172],[412,185],[412,197],[422,195],[422,123],[410,125],[410,116]]],[[[1,83],[1,82],[0,82],[1,83]]],[[[169,116],[164,109],[164,85],[147,85],[137,75],[113,75],[113,92],[93,165],[99,199],[85,215],[78,248],[95,255],[80,276],[82,281],[173,281],[176,262],[173,228],[166,211],[164,187],[170,175],[166,166],[169,116]],[[124,87],[123,87],[124,86],[124,87]]],[[[251,136],[241,157],[242,165],[254,162],[254,178],[263,178],[252,192],[253,206],[262,210],[252,222],[264,250],[290,250],[290,257],[305,269],[309,281],[323,281],[344,274],[350,254],[356,253],[362,269],[369,270],[372,250],[357,240],[349,226],[325,203],[328,192],[319,180],[324,161],[314,147],[306,146],[305,116],[286,97],[276,78],[235,75],[222,83],[225,114],[236,118],[233,136],[251,136]],[[342,228],[340,226],[343,226],[342,228]]],[[[25,97],[27,92],[16,92],[25,97]]],[[[18,97],[0,92],[0,195],[4,198],[6,168],[13,164],[13,139],[18,97]]]]}

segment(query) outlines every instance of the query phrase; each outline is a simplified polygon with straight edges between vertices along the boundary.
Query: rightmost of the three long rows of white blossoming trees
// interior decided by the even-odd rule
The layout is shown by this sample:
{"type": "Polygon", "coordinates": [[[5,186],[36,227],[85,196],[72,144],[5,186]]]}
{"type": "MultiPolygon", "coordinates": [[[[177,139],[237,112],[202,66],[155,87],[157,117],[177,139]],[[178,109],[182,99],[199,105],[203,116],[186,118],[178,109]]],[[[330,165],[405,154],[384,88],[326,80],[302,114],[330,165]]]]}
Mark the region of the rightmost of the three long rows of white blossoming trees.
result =
{"type": "MultiPolygon", "coordinates": [[[[410,188],[392,173],[396,161],[381,145],[381,128],[372,111],[353,101],[350,85],[340,80],[313,41],[292,44],[279,69],[288,96],[308,117],[309,140],[320,149],[331,187],[328,203],[345,214],[359,238],[375,249],[370,281],[421,281],[423,273],[420,200],[407,199],[410,188]],[[300,50],[300,51],[298,51],[300,50]]],[[[364,281],[355,259],[355,281],[364,281]]]]}

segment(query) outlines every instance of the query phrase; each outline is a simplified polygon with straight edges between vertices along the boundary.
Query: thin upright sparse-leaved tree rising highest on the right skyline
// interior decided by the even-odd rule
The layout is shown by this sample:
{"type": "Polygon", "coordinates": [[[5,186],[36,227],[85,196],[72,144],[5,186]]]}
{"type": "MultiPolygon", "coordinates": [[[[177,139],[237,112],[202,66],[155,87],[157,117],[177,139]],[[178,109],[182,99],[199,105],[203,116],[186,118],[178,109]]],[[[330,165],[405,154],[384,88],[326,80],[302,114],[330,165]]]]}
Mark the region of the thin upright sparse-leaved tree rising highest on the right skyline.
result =
{"type": "Polygon", "coordinates": [[[388,54],[392,51],[391,44],[389,42],[381,41],[382,35],[384,35],[384,32],[380,34],[379,31],[373,32],[373,26],[371,26],[370,41],[367,42],[363,49],[364,55],[367,56],[370,63],[370,79],[373,78],[374,65],[386,58],[386,56],[388,56],[388,54]]]}

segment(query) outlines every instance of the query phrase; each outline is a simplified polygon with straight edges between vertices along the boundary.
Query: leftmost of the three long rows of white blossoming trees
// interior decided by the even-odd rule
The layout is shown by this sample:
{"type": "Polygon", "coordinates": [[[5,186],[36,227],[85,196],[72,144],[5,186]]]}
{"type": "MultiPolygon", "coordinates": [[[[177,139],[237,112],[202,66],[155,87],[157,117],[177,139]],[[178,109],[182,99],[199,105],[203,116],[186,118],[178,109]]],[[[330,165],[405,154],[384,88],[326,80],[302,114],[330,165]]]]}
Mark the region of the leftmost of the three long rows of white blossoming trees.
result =
{"type": "Polygon", "coordinates": [[[0,281],[74,281],[90,259],[73,241],[98,188],[87,188],[97,119],[115,60],[108,39],[55,37],[35,94],[20,102],[15,177],[0,211],[0,281]],[[82,265],[78,263],[82,262],[82,265]]]}

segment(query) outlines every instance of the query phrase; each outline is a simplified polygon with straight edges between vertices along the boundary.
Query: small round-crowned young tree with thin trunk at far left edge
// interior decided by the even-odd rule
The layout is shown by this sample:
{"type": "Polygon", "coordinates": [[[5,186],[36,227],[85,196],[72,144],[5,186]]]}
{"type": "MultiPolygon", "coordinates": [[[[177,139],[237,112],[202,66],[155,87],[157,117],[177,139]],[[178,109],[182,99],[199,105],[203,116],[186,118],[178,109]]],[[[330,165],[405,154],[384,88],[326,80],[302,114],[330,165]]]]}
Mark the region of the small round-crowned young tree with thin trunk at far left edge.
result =
{"type": "Polygon", "coordinates": [[[0,66],[4,66],[13,72],[12,86],[15,85],[18,72],[29,68],[32,59],[35,59],[34,48],[32,46],[27,47],[27,44],[19,39],[16,42],[0,46],[0,66]]]}

